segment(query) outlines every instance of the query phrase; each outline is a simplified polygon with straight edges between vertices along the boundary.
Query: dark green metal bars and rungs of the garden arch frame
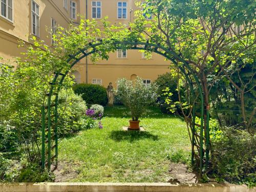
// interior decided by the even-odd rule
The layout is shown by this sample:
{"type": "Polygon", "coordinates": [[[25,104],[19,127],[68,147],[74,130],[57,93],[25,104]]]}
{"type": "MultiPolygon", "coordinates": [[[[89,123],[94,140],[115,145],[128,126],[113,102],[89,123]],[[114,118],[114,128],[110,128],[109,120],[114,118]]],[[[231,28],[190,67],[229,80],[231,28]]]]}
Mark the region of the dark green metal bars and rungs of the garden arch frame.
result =
{"type": "MultiPolygon", "coordinates": [[[[190,78],[187,76],[187,73],[185,72],[185,69],[181,66],[178,65],[177,60],[181,61],[184,64],[184,67],[189,71],[189,73],[193,76],[193,78],[196,81],[196,84],[198,86],[198,92],[199,92],[199,98],[201,101],[201,112],[200,112],[200,118],[201,118],[201,125],[200,125],[200,150],[199,150],[199,154],[200,154],[200,161],[199,161],[199,167],[200,167],[200,174],[202,174],[202,170],[203,170],[203,158],[204,158],[204,151],[205,151],[205,169],[208,168],[208,161],[209,161],[209,109],[208,108],[204,108],[204,97],[203,97],[203,91],[201,88],[201,84],[199,82],[199,79],[197,78],[196,74],[193,72],[193,70],[190,68],[190,66],[188,65],[188,63],[182,59],[179,55],[177,55],[175,52],[173,52],[172,50],[169,50],[165,47],[162,47],[160,45],[156,45],[156,44],[152,44],[150,42],[148,42],[148,40],[146,42],[139,42],[139,41],[119,41],[119,40],[115,40],[112,39],[111,41],[106,41],[103,42],[102,39],[99,40],[99,42],[96,42],[95,44],[89,43],[88,46],[84,47],[83,49],[78,49],[79,51],[76,52],[73,55],[69,55],[69,58],[67,59],[67,63],[70,63],[69,69],[65,71],[65,73],[61,73],[61,71],[63,69],[60,69],[58,72],[54,72],[55,76],[53,78],[53,81],[50,82],[51,84],[51,88],[49,90],[49,93],[47,94],[48,96],[48,101],[47,101],[47,106],[45,106],[45,104],[43,104],[42,109],[41,109],[41,113],[42,113],[42,154],[41,154],[41,166],[44,169],[45,165],[47,165],[48,170],[51,169],[51,162],[52,159],[56,160],[56,166],[57,166],[57,158],[58,158],[58,135],[57,135],[57,123],[58,123],[58,111],[57,111],[57,107],[58,107],[58,93],[61,89],[61,85],[63,80],[65,79],[65,77],[67,76],[67,74],[70,72],[70,69],[82,58],[91,55],[95,52],[97,52],[97,46],[103,45],[104,43],[106,44],[112,44],[115,46],[115,49],[122,49],[122,47],[120,45],[125,45],[125,46],[130,46],[127,47],[126,49],[131,49],[131,50],[146,50],[146,51],[151,51],[151,52],[155,52],[157,54],[160,54],[162,56],[164,56],[165,58],[167,58],[168,60],[171,60],[174,65],[176,65],[180,71],[183,73],[185,79],[187,80],[188,84],[189,84],[189,88],[192,92],[192,96],[193,98],[195,98],[195,92],[194,92],[194,87],[193,87],[193,83],[191,82],[190,78]],[[137,46],[144,46],[144,47],[137,47],[137,46]],[[88,49],[92,49],[91,51],[87,52],[88,49]],[[160,51],[161,50],[161,51],[160,51]],[[82,54],[82,55],[81,55],[82,54]],[[78,57],[77,57],[78,56],[78,57]],[[173,58],[173,57],[174,58],[173,58]],[[72,61],[73,60],[73,61],[72,61]],[[58,77],[61,76],[60,80],[58,83],[57,79],[58,77]],[[55,93],[53,93],[54,88],[57,86],[57,90],[55,93]],[[54,104],[51,104],[51,98],[52,95],[55,95],[55,99],[54,99],[54,104]],[[51,115],[51,108],[54,106],[54,115],[51,115]],[[47,109],[47,118],[45,118],[45,110],[47,109]],[[206,111],[205,111],[206,110],[206,111]],[[206,149],[203,149],[203,133],[204,133],[204,113],[206,115],[206,138],[205,138],[205,146],[206,149]],[[54,139],[55,139],[55,145],[51,146],[51,130],[52,130],[52,117],[54,116],[54,139]],[[48,129],[46,130],[46,123],[45,121],[47,120],[47,127],[48,129]],[[48,132],[47,137],[48,140],[45,140],[45,132],[48,132]],[[45,153],[45,142],[48,143],[48,152],[45,153]],[[55,148],[55,155],[53,157],[51,157],[51,151],[52,149],[55,148]],[[48,155],[48,160],[47,160],[47,164],[45,163],[45,156],[48,155]]],[[[193,111],[192,111],[192,137],[191,137],[191,164],[194,164],[194,155],[195,155],[195,151],[194,151],[194,145],[195,145],[195,118],[196,118],[196,106],[195,103],[193,105],[193,111]]]]}

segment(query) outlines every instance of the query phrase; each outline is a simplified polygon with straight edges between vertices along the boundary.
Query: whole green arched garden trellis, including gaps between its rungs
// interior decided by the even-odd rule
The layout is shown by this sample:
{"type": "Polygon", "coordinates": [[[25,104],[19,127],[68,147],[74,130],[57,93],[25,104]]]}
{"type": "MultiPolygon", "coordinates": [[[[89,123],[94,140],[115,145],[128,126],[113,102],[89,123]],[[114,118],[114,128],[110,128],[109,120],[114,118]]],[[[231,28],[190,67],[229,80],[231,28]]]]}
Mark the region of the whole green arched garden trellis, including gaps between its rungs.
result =
{"type": "MultiPolygon", "coordinates": [[[[82,58],[89,56],[97,52],[97,47],[104,44],[112,44],[115,50],[122,49],[125,46],[126,49],[132,50],[146,50],[155,52],[172,61],[176,65],[181,73],[184,75],[186,81],[188,82],[191,96],[194,100],[193,109],[188,120],[190,127],[189,138],[191,141],[191,164],[196,163],[199,166],[200,174],[202,174],[203,166],[208,169],[209,162],[209,107],[204,104],[204,96],[201,88],[201,83],[196,75],[196,73],[191,69],[188,63],[177,55],[172,50],[164,48],[160,45],[152,44],[148,41],[119,41],[112,39],[109,42],[103,42],[102,39],[95,42],[94,44],[89,43],[83,49],[78,49],[79,51],[73,55],[70,55],[67,59],[69,63],[68,69],[64,73],[61,73],[63,69],[54,72],[55,76],[52,82],[49,82],[51,87],[49,90],[47,105],[45,103],[42,106],[42,150],[41,150],[41,166],[45,168],[48,167],[51,170],[51,165],[55,162],[54,168],[57,167],[58,159],[58,93],[61,89],[61,85],[65,77],[70,72],[70,69],[82,58]],[[182,62],[182,65],[178,65],[177,60],[182,62]],[[194,79],[194,81],[192,80],[194,79]],[[194,86],[196,85],[196,86],[194,86]],[[196,89],[197,88],[197,89],[196,89]],[[196,91],[197,95],[196,95],[196,91]],[[55,99],[52,97],[55,96],[55,99]],[[198,100],[199,102],[196,102],[198,100]],[[200,106],[200,112],[197,113],[197,104],[200,106]],[[54,108],[52,110],[52,108],[54,108]],[[195,122],[196,116],[201,119],[201,124],[195,122]],[[198,126],[200,134],[197,133],[195,126],[198,126]],[[47,137],[46,137],[47,136],[47,137]],[[52,142],[53,141],[53,142],[52,142]],[[204,147],[205,146],[205,147],[204,147]],[[55,151],[55,155],[52,156],[52,152],[55,151]],[[46,159],[47,157],[47,159],[46,159]]],[[[189,129],[188,129],[189,130],[189,129]]]]}

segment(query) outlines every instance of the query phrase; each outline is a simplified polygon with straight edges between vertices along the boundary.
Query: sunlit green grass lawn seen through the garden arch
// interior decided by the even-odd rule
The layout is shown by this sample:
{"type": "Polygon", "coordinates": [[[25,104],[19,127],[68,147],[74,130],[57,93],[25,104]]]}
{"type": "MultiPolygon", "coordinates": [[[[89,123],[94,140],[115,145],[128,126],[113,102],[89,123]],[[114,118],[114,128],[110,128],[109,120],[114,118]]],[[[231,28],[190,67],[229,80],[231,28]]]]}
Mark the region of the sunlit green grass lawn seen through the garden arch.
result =
{"type": "Polygon", "coordinates": [[[185,123],[149,108],[141,118],[145,132],[125,132],[129,111],[106,107],[103,129],[82,131],[59,143],[61,175],[74,182],[167,182],[170,162],[188,163],[185,123]],[[71,174],[72,175],[72,174],[71,174]]]}

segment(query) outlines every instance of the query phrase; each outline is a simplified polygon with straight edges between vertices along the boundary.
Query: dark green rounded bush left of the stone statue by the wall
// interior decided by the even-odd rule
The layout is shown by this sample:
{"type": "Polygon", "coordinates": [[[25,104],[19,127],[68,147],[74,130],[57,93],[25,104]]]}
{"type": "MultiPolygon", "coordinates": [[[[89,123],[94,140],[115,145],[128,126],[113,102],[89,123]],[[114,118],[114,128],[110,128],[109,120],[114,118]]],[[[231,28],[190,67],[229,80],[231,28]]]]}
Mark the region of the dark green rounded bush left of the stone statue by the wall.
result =
{"type": "Polygon", "coordinates": [[[82,99],[86,101],[87,104],[100,104],[105,106],[108,103],[108,95],[106,94],[106,89],[98,84],[76,84],[74,87],[74,92],[81,95],[82,99]]]}

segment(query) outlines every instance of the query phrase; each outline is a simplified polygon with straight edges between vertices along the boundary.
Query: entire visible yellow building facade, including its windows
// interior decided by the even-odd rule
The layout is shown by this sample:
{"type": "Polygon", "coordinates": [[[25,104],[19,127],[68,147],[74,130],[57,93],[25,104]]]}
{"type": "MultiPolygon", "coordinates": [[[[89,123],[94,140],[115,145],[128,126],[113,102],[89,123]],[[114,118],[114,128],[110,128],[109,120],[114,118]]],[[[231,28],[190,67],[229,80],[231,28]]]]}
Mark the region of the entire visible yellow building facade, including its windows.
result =
{"type": "MultiPolygon", "coordinates": [[[[19,39],[30,44],[30,35],[35,35],[51,45],[51,35],[46,29],[54,29],[56,26],[67,28],[71,22],[76,25],[79,23],[79,14],[88,19],[98,20],[99,25],[100,19],[108,16],[112,24],[122,23],[128,27],[135,18],[135,10],[138,9],[135,0],[0,0],[0,2],[0,57],[10,62],[13,62],[15,57],[22,57],[20,52],[24,50],[17,48],[19,39]]],[[[72,71],[76,81],[101,84],[104,87],[112,82],[116,87],[118,78],[134,79],[139,76],[145,84],[150,84],[158,75],[169,71],[169,62],[154,53],[150,59],[144,58],[144,54],[137,50],[119,50],[110,53],[109,56],[108,61],[102,60],[96,65],[93,65],[89,58],[79,61],[72,71]]]]}

